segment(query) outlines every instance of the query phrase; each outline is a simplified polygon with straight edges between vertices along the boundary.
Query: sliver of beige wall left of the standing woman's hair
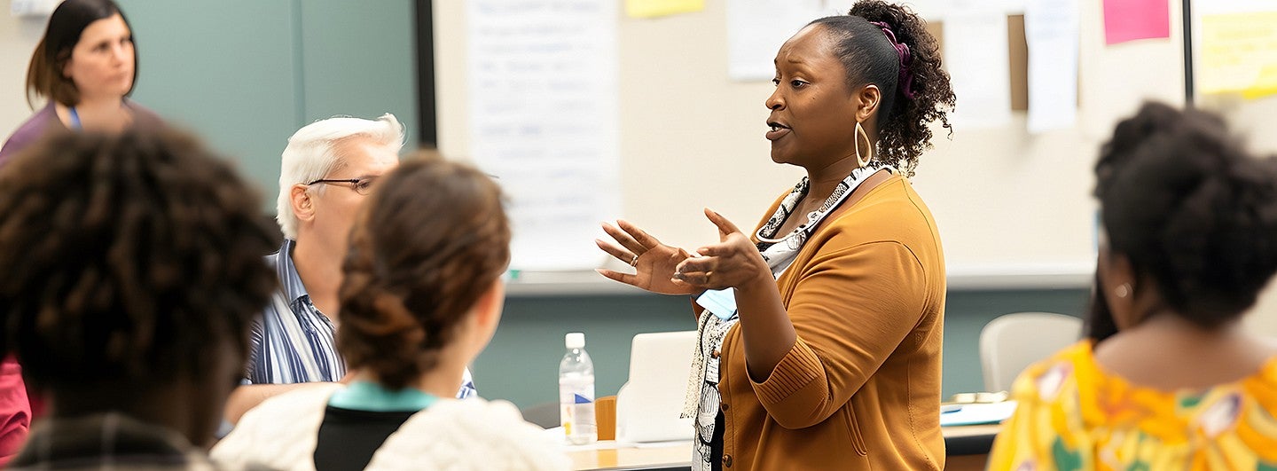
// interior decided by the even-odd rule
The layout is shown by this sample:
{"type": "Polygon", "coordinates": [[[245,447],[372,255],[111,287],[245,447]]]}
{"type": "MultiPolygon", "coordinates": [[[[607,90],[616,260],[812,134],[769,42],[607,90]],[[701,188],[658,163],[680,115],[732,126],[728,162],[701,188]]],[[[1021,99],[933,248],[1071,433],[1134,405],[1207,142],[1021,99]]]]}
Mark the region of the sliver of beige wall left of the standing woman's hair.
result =
{"type": "Polygon", "coordinates": [[[8,139],[31,116],[27,106],[27,63],[45,33],[46,18],[15,18],[9,1],[0,3],[0,134],[8,139]]]}

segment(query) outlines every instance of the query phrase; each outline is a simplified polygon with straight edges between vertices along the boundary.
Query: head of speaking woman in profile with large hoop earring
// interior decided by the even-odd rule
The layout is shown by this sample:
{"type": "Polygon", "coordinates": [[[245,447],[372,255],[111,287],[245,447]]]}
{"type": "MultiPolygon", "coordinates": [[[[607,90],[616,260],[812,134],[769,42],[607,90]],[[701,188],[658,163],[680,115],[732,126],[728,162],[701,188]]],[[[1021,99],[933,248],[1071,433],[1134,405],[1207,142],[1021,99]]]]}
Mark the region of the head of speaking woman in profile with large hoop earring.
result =
{"type": "Polygon", "coordinates": [[[928,124],[949,128],[954,93],[922,18],[859,0],[847,15],[816,19],[782,46],[776,92],[765,105],[773,110],[769,139],[778,162],[803,165],[854,146],[863,158],[913,175],[931,147],[928,124]]]}

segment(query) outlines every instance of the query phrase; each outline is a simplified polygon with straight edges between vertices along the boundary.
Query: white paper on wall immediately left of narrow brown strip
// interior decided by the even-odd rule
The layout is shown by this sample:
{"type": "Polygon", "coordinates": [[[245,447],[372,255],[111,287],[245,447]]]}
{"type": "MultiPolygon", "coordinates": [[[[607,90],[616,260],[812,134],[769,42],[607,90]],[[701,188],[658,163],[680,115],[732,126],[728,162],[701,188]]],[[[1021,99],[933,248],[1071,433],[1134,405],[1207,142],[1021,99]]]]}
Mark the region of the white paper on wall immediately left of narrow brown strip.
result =
{"type": "Polygon", "coordinates": [[[944,55],[958,105],[956,128],[997,128],[1011,121],[1006,14],[994,8],[953,10],[945,17],[944,55]]]}

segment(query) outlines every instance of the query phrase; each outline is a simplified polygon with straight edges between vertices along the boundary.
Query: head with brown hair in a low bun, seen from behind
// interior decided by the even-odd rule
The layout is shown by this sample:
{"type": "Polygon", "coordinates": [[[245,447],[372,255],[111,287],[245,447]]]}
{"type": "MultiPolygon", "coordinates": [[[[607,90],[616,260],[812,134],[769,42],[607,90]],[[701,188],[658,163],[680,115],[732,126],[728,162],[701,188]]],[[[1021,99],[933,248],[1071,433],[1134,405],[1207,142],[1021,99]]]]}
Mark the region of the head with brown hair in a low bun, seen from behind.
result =
{"type": "Polygon", "coordinates": [[[495,332],[510,236],[501,189],[474,167],[419,153],[383,176],[342,267],[337,347],[350,368],[391,389],[455,369],[451,396],[495,332]]]}

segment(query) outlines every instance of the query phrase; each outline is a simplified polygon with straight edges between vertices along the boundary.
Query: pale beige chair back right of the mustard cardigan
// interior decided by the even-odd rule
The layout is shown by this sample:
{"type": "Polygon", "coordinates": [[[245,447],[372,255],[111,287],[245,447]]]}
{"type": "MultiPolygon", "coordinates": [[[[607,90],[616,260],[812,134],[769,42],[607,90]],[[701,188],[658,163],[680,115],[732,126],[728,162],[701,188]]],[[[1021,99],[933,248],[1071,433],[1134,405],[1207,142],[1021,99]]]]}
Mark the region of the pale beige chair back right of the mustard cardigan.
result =
{"type": "Polygon", "coordinates": [[[1015,377],[1036,361],[1082,338],[1082,319],[1055,313],[1001,315],[979,332],[979,364],[985,391],[1008,391],[1015,377]]]}

